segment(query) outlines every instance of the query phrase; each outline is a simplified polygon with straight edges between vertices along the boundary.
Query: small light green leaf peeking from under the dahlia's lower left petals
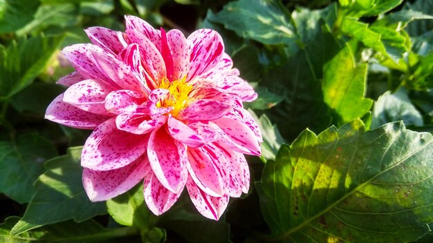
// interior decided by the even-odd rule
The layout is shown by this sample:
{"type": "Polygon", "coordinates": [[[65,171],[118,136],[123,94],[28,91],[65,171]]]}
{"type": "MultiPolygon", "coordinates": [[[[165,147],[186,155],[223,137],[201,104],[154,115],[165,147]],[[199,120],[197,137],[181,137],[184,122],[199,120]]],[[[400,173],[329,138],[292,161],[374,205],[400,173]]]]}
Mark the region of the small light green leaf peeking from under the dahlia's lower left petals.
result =
{"type": "Polygon", "coordinates": [[[140,230],[149,228],[151,214],[145,204],[142,183],[118,197],[107,200],[107,210],[119,224],[136,226],[140,230]]]}

